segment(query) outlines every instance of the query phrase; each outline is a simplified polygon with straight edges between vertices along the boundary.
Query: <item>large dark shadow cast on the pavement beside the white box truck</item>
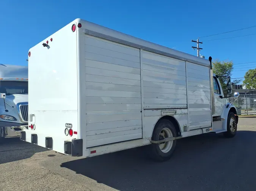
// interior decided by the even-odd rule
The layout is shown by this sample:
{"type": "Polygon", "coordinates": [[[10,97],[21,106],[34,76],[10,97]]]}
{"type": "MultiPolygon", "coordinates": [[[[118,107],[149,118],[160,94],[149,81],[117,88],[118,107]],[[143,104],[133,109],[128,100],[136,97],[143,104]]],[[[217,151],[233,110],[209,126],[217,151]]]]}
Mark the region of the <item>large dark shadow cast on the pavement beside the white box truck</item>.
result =
{"type": "Polygon", "coordinates": [[[255,190],[256,131],[226,139],[204,134],[178,140],[173,157],[153,162],[143,147],[61,164],[118,190],[255,190]]]}

